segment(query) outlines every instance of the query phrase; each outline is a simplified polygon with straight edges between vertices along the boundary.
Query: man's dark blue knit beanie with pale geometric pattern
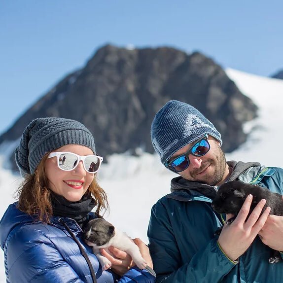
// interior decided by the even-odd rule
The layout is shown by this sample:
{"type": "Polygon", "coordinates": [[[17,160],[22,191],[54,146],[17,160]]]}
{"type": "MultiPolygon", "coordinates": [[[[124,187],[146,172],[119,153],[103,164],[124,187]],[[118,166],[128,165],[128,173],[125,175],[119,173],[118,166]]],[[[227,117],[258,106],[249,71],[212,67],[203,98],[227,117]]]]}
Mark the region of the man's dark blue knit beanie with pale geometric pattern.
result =
{"type": "Polygon", "coordinates": [[[200,111],[177,100],[169,101],[157,112],[150,133],[153,147],[164,165],[180,148],[205,134],[222,144],[220,133],[200,111]]]}

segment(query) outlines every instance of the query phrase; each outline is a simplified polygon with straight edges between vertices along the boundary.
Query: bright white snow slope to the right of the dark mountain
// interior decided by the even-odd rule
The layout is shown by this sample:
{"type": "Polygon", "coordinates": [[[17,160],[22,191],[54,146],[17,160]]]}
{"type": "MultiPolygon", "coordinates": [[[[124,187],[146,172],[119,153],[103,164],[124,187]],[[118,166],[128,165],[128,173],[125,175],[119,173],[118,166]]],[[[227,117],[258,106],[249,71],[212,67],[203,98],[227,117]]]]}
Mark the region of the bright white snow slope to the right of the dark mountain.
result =
{"type": "Polygon", "coordinates": [[[246,124],[247,142],[226,154],[226,158],[282,167],[283,80],[232,69],[227,69],[226,73],[259,108],[258,117],[246,124]]]}

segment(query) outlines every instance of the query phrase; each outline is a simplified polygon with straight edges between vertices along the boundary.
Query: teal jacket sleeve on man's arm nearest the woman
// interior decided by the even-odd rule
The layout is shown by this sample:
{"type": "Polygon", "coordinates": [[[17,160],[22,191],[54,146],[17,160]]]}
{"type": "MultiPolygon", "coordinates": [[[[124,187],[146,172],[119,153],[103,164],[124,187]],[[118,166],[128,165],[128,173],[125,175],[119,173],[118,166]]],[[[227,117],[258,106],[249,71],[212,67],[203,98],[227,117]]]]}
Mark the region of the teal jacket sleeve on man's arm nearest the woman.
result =
{"type": "Polygon", "coordinates": [[[217,283],[235,266],[220,250],[216,239],[183,263],[174,232],[166,205],[158,202],[152,208],[148,228],[156,282],[217,283]]]}

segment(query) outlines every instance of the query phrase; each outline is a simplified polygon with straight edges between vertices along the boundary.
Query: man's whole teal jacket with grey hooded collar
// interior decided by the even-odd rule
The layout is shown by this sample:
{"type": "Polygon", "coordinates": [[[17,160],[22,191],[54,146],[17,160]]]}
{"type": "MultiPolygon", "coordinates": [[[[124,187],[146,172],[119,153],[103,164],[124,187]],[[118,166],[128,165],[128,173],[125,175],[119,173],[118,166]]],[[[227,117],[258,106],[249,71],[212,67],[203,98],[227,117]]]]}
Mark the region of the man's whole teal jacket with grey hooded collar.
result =
{"type": "MultiPolygon", "coordinates": [[[[259,184],[283,194],[283,169],[254,162],[228,164],[233,167],[230,181],[259,184]]],[[[216,188],[176,177],[171,192],[153,206],[148,226],[157,283],[283,282],[283,261],[270,264],[271,249],[259,237],[238,262],[221,251],[214,232],[223,220],[211,207],[216,188]]]]}

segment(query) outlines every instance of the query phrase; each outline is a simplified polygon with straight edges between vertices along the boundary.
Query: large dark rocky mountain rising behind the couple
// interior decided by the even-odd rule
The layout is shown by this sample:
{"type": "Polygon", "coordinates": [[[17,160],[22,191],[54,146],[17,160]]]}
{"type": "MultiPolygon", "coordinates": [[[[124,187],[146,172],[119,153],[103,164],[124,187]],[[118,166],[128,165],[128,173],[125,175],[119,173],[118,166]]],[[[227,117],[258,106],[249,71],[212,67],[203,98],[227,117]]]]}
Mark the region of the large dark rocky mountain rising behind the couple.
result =
{"type": "Polygon", "coordinates": [[[222,134],[225,152],[246,140],[242,125],[257,109],[222,68],[201,53],[106,45],[85,68],[67,75],[39,99],[0,143],[18,139],[34,118],[56,116],[85,124],[102,156],[134,153],[137,147],[152,153],[152,119],[171,99],[195,106],[210,119],[222,134]]]}

